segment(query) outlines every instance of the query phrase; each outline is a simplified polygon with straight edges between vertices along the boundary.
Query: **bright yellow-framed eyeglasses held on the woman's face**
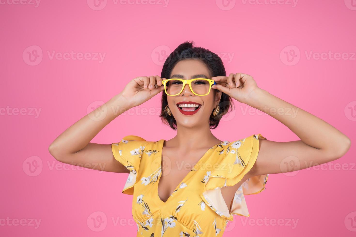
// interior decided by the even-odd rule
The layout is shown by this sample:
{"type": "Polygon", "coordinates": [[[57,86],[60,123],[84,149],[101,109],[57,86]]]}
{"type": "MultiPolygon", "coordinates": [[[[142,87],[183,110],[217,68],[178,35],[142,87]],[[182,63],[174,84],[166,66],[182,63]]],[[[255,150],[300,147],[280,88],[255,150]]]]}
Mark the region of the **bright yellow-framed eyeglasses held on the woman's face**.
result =
{"type": "Polygon", "coordinates": [[[182,93],[183,88],[186,84],[189,85],[190,91],[197,96],[206,96],[210,93],[211,86],[216,85],[214,80],[205,79],[205,78],[195,78],[195,79],[179,79],[172,78],[162,81],[164,86],[164,92],[168,96],[177,96],[182,93]]]}

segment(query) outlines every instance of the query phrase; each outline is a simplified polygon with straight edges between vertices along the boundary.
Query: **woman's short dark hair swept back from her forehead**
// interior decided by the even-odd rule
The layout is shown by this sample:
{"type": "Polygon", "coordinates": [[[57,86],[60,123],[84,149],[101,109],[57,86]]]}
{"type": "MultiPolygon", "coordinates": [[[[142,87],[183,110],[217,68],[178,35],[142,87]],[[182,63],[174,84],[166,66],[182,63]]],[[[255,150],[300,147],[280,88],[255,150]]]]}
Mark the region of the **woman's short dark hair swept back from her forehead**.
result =
{"type": "MultiPolygon", "coordinates": [[[[180,44],[171,54],[169,54],[168,58],[164,62],[161,72],[161,78],[169,79],[174,66],[178,63],[178,61],[184,59],[200,59],[206,64],[206,66],[208,66],[212,76],[226,76],[223,61],[217,54],[202,47],[193,47],[193,41],[186,41],[180,44]]],[[[231,97],[223,92],[221,93],[222,94],[219,103],[220,112],[218,115],[214,116],[213,111],[211,111],[209,121],[210,129],[215,129],[219,125],[220,119],[223,117],[223,115],[228,113],[233,106],[231,97]]],[[[173,117],[173,114],[169,116],[166,112],[167,105],[167,95],[163,91],[162,110],[161,115],[159,115],[159,117],[161,117],[163,123],[169,125],[173,130],[177,130],[177,121],[173,117]]]]}

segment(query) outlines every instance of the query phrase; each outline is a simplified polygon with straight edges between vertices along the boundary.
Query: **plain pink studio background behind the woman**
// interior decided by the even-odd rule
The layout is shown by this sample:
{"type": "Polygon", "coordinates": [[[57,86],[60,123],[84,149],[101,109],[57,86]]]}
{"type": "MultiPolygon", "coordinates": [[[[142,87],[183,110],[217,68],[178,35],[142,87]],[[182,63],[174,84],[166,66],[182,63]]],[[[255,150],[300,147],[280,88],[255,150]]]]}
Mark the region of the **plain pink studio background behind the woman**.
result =
{"type": "MultiPolygon", "coordinates": [[[[186,40],[220,55],[227,74],[252,75],[261,88],[356,142],[355,1],[125,2],[1,1],[1,236],[136,236],[132,196],[121,194],[127,174],[64,165],[48,146],[131,79],[160,75],[165,55],[186,40]],[[52,58],[53,51],[89,54],[65,60],[52,58]],[[329,51],[344,58],[309,57],[329,51]],[[27,52],[38,57],[31,61],[27,52]],[[98,52],[105,53],[103,61],[91,59],[98,52]],[[91,221],[98,215],[100,228],[91,221]]],[[[172,138],[175,132],[157,115],[159,100],[122,114],[93,142],[110,144],[126,135],[172,138]],[[150,108],[153,113],[145,111],[150,108]]],[[[261,133],[273,141],[299,140],[272,117],[235,105],[213,130],[219,139],[261,133]]],[[[246,196],[251,216],[235,216],[224,236],[353,236],[355,153],[351,146],[327,165],[271,174],[266,190],[246,196]]]]}

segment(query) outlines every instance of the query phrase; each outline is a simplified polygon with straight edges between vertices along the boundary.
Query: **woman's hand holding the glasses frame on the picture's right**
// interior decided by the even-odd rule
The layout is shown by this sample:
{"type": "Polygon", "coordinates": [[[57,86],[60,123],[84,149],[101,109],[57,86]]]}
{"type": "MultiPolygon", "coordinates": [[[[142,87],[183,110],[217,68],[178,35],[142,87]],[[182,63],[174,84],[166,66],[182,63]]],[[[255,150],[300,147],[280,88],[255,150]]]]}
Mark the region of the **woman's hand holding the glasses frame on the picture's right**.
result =
{"type": "Polygon", "coordinates": [[[216,85],[211,86],[211,88],[224,92],[245,104],[247,104],[251,92],[259,88],[252,76],[243,73],[231,73],[229,76],[214,76],[211,79],[216,82],[216,85]]]}

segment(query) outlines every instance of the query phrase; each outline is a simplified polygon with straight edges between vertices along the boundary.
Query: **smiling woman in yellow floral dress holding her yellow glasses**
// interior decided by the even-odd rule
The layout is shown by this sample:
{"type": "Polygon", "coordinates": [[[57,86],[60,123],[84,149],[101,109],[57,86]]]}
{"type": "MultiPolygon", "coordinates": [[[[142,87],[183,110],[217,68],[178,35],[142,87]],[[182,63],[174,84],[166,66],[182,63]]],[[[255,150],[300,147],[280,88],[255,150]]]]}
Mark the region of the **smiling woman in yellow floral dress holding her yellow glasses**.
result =
{"type": "Polygon", "coordinates": [[[249,216],[244,195],[261,192],[268,174],[334,161],[350,144],[330,124],[259,88],[250,75],[226,77],[218,55],[185,42],[169,55],[161,77],[131,80],[59,135],[49,152],[64,163],[93,163],[93,169],[99,163],[104,171],[130,173],[122,192],[133,195],[137,236],[210,237],[222,236],[233,215],[249,216]],[[162,91],[160,117],[177,130],[174,138],[131,135],[109,145],[90,142],[122,112],[162,91]],[[231,109],[231,97],[271,115],[300,140],[275,142],[261,134],[232,142],[215,138],[211,129],[231,109]],[[100,112],[104,117],[92,119],[100,112]]]}

